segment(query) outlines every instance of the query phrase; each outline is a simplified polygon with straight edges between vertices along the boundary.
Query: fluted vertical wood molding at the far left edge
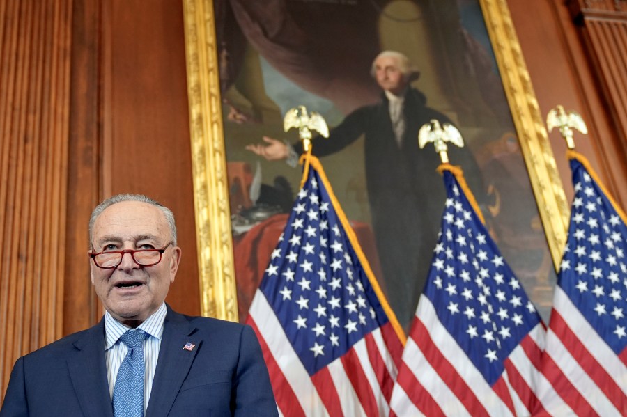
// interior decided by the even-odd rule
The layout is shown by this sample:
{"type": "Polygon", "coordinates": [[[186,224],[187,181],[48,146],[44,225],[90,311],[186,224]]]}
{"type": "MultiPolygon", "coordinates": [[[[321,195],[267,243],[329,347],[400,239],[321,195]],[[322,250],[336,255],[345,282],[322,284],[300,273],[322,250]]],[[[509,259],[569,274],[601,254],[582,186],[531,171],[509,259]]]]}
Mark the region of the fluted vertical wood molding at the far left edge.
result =
{"type": "Polygon", "coordinates": [[[71,0],[0,2],[0,396],[63,326],[71,0]]]}

